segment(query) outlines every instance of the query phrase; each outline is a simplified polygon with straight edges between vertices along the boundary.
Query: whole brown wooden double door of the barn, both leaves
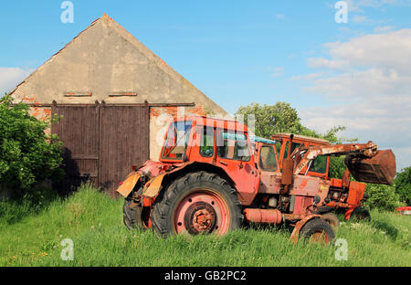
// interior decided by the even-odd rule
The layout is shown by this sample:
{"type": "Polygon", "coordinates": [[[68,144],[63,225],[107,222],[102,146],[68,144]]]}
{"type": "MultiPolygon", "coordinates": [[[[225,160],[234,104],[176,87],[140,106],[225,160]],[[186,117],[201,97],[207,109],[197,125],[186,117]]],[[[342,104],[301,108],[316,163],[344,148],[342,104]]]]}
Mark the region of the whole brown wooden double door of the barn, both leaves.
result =
{"type": "Polygon", "coordinates": [[[55,104],[53,113],[62,116],[51,128],[64,144],[62,193],[90,180],[116,196],[132,165],[149,159],[148,106],[55,104]]]}

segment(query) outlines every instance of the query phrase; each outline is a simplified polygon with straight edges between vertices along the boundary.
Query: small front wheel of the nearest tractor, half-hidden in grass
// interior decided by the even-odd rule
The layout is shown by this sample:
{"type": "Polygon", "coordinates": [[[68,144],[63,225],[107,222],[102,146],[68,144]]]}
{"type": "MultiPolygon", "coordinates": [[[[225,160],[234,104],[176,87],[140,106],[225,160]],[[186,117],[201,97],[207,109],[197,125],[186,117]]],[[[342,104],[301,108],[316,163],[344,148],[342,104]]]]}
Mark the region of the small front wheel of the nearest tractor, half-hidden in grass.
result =
{"type": "Polygon", "coordinates": [[[335,233],[328,222],[313,218],[301,228],[300,236],[312,242],[330,243],[334,240],[335,233]]]}

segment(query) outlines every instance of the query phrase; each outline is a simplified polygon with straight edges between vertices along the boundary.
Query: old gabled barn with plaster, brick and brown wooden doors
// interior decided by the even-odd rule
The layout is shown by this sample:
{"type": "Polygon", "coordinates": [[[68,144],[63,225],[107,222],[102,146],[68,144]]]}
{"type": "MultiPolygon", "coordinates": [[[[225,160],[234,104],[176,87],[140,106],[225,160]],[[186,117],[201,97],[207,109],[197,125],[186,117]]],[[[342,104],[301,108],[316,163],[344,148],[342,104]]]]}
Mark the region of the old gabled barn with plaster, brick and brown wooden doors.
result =
{"type": "Polygon", "coordinates": [[[229,115],[110,16],[103,15],[11,91],[31,114],[61,117],[60,191],[91,180],[115,196],[132,165],[158,160],[169,117],[229,115]]]}

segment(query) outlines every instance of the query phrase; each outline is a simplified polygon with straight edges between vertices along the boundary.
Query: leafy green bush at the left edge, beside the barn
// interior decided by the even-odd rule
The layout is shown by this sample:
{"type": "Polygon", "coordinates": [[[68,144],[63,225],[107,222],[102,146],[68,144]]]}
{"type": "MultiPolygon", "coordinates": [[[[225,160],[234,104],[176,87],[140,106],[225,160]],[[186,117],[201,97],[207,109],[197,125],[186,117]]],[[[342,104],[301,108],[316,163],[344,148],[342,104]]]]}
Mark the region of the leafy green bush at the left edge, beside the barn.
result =
{"type": "Polygon", "coordinates": [[[45,133],[50,123],[30,116],[26,104],[12,104],[9,95],[0,100],[0,185],[24,195],[61,175],[61,144],[45,133]]]}

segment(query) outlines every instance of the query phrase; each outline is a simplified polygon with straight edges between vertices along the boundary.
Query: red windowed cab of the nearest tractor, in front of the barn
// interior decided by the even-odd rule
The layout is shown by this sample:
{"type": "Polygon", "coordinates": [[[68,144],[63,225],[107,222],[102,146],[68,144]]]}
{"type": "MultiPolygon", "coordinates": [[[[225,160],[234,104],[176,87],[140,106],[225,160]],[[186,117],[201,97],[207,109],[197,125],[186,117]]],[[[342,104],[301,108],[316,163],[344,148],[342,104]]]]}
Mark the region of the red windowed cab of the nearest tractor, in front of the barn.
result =
{"type": "Polygon", "coordinates": [[[237,121],[185,117],[170,124],[160,155],[163,163],[205,162],[227,165],[252,160],[248,128],[237,121]]]}

